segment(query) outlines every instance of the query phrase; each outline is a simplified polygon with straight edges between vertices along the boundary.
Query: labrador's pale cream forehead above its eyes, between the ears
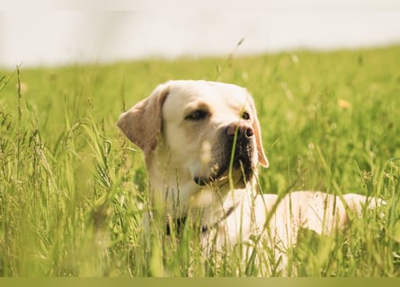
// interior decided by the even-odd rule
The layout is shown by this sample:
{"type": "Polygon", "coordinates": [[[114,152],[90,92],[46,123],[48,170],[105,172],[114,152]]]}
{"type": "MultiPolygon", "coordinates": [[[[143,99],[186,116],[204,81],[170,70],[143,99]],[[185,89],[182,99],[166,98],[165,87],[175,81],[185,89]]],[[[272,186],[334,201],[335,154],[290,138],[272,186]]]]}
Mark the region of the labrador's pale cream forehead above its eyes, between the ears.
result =
{"type": "Polygon", "coordinates": [[[215,107],[218,104],[243,109],[250,104],[250,94],[231,83],[206,81],[174,81],[170,83],[165,106],[185,108],[198,103],[215,107]]]}

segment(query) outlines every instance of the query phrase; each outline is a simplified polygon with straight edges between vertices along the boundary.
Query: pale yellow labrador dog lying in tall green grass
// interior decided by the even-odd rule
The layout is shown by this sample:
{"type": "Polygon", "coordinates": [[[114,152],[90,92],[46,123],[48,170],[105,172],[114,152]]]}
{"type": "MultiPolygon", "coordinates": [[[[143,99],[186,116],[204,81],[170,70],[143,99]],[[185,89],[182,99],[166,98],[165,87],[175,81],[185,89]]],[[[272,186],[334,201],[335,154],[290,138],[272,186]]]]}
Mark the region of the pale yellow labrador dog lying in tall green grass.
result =
{"type": "Polygon", "coordinates": [[[300,228],[330,233],[367,203],[355,194],[258,195],[257,169],[268,160],[253,98],[234,84],[160,84],[121,114],[118,126],[145,154],[154,204],[176,225],[200,216],[206,250],[261,236],[278,259],[296,244],[300,228]]]}

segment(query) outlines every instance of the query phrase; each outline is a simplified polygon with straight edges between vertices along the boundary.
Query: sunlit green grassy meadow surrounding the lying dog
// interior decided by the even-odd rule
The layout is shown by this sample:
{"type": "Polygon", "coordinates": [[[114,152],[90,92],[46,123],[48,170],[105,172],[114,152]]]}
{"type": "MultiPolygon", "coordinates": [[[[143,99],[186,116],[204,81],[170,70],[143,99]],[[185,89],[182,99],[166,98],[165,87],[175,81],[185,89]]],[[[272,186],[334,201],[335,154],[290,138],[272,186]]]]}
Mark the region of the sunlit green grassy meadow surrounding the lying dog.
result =
{"type": "Polygon", "coordinates": [[[0,70],[1,276],[277,276],[201,256],[156,222],[145,239],[143,154],[120,113],[170,79],[252,94],[270,161],[263,193],[323,190],[387,205],[330,237],[305,231],[299,276],[400,275],[400,46],[0,70]]]}

